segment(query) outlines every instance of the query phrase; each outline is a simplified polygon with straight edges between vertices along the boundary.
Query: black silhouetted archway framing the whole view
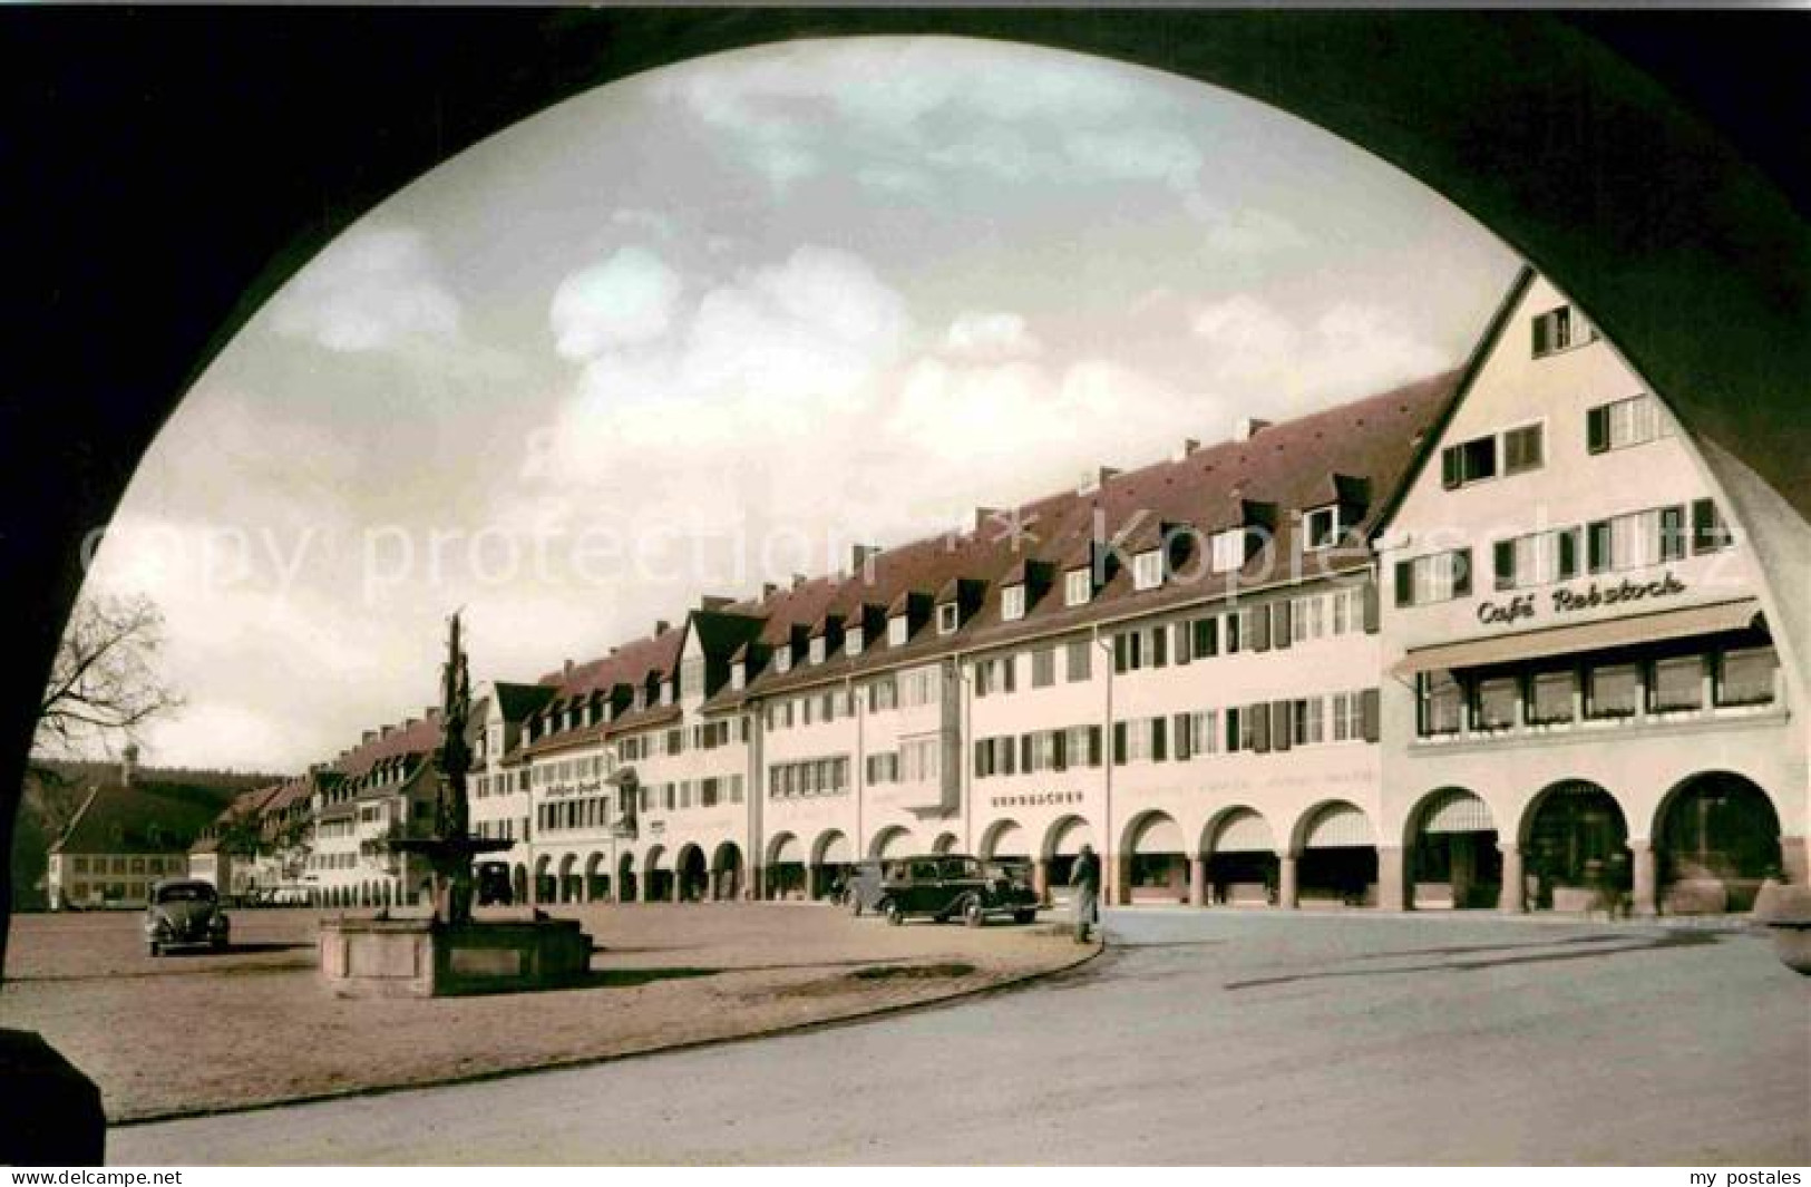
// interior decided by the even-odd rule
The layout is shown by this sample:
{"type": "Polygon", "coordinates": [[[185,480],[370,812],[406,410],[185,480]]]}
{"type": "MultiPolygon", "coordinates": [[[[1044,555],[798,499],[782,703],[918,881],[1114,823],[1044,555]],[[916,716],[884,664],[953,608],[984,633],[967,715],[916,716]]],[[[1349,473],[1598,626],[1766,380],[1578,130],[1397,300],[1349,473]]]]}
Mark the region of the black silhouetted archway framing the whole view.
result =
{"type": "MultiPolygon", "coordinates": [[[[784,38],[958,34],[1094,53],[1222,85],[1369,149],[1552,275],[1720,446],[1710,460],[1762,560],[1811,555],[1811,529],[1791,515],[1811,511],[1811,426],[1798,415],[1811,375],[1811,83],[1806,25],[1787,13],[13,9],[0,20],[13,51],[4,98],[34,112],[13,129],[22,183],[0,223],[22,308],[11,324],[29,344],[9,352],[0,413],[0,580],[18,598],[0,674],[0,854],[81,540],[244,319],[371,205],[484,136],[616,78],[784,38]]],[[[1811,607],[1784,609],[1782,634],[1811,634],[1811,607]]],[[[9,879],[0,895],[4,919],[9,879]]]]}

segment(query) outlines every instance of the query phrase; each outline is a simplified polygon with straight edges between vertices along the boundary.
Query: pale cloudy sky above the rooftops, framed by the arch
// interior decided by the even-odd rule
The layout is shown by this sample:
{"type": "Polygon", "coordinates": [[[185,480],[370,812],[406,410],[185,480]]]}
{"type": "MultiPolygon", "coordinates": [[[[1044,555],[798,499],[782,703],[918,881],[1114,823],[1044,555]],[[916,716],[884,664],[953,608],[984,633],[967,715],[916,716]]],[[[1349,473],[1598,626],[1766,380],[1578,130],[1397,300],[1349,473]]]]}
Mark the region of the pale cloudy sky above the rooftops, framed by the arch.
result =
{"type": "Polygon", "coordinates": [[[1456,364],[1516,268],[1420,183],[1157,72],[956,40],[603,87],[313,259],[165,428],[158,763],[299,768],[699,594],[1456,364]]]}

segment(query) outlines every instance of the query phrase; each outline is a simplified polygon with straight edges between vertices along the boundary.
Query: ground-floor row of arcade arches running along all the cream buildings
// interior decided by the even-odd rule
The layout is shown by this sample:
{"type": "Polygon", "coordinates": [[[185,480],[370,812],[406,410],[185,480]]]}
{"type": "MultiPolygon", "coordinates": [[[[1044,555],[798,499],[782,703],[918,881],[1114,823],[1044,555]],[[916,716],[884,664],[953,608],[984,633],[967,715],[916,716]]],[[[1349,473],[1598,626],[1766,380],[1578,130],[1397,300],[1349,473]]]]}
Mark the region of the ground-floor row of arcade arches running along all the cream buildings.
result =
{"type": "MultiPolygon", "coordinates": [[[[1773,801],[1742,776],[1684,779],[1653,821],[1637,823],[1648,826],[1646,837],[1632,837],[1612,790],[1585,779],[1545,787],[1507,837],[1490,805],[1461,787],[1427,792],[1398,844],[1380,843],[1367,814],[1344,799],[1322,801],[1286,826],[1255,806],[1228,806],[1193,844],[1172,815],[1146,810],[1107,848],[1105,893],[1114,904],[1719,913],[1748,910],[1762,881],[1789,866],[1773,801]]],[[[1032,863],[1038,890],[1054,899],[1083,844],[1103,850],[1085,815],[1056,819],[1041,835],[998,819],[982,832],[976,854],[1032,863]]],[[[904,857],[916,848],[904,828],[887,828],[871,839],[867,855],[904,857]]],[[[931,843],[938,854],[958,848],[951,832],[931,843]]],[[[762,857],[750,868],[733,841],[708,850],[652,844],[614,859],[545,854],[532,884],[520,863],[513,883],[518,902],[543,904],[819,899],[840,881],[855,850],[835,828],[810,841],[779,832],[762,857]]],[[[386,906],[397,893],[389,883],[371,883],[330,892],[322,902],[386,906]]]]}

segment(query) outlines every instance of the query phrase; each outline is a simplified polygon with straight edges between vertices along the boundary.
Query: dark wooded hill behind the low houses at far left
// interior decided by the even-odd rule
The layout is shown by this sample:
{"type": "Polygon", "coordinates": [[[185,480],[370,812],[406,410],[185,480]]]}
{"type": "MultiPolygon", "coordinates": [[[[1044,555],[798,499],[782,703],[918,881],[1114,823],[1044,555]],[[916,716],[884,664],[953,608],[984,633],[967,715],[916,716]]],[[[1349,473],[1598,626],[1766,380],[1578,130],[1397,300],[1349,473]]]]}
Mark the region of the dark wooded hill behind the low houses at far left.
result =
{"type": "MultiPolygon", "coordinates": [[[[188,767],[139,767],[134,785],[149,792],[130,817],[156,823],[168,815],[163,832],[172,835],[196,832],[196,821],[212,821],[232,803],[234,796],[255,787],[281,783],[288,776],[237,770],[197,770],[188,767]]],[[[71,817],[96,787],[118,788],[120,763],[80,759],[34,759],[34,774],[27,776],[13,834],[13,908],[43,908],[43,872],[51,843],[69,826],[71,817]]],[[[107,799],[130,799],[130,788],[112,792],[107,799]]]]}

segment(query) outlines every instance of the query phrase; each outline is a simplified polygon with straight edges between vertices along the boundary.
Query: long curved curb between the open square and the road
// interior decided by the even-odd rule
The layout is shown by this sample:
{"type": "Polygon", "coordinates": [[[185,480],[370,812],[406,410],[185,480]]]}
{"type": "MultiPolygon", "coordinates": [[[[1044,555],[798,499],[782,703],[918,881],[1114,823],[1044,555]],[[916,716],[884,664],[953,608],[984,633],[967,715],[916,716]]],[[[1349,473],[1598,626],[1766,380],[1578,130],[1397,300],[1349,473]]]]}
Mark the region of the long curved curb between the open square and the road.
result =
{"type": "Polygon", "coordinates": [[[936,1009],[940,1006],[953,1006],[960,1002],[969,1002],[974,999],[989,997],[994,993],[1011,993],[1023,989],[1034,982],[1056,977],[1059,973],[1074,971],[1101,953],[1107,951],[1107,942],[1101,941],[1092,944],[1088,951],[1083,951],[1074,960],[1054,964],[1050,968],[1040,968],[1027,973],[1016,973],[1005,980],[996,980],[985,986],[973,986],[969,989],[956,989],[942,997],[927,997],[916,1002],[895,1002],[889,1006],[877,1006],[873,1009],[864,1009],[858,1013],[838,1015],[835,1018],[813,1018],[808,1022],[788,1022],[784,1026],[770,1026],[764,1029],[746,1031],[743,1035],[717,1035],[712,1038],[686,1038],[681,1042],[670,1042],[654,1047],[643,1047],[639,1051],[621,1051],[616,1055],[585,1055],[578,1058],[552,1060],[547,1064],[532,1064],[527,1067],[496,1067],[491,1071],[474,1071],[469,1075],[436,1078],[436,1080],[409,1080],[404,1084],[371,1084],[348,1087],[330,1093],[308,1093],[302,1096],[284,1096],[283,1100],[263,1100],[248,1105],[217,1105],[217,1107],[197,1107],[197,1109],[168,1109],[163,1113],[147,1113],[141,1116],[132,1116],[125,1120],[107,1120],[107,1131],[116,1129],[136,1129],[139,1125],[163,1125],[167,1122],[188,1122],[206,1116],[234,1116],[243,1113],[270,1113],[273,1109],[290,1109],[295,1105],[313,1105],[313,1104],[331,1104],[335,1100],[357,1100],[362,1096],[391,1096],[395,1093],[417,1093],[433,1087],[458,1087],[464,1084],[487,1084],[491,1080],[513,1080],[518,1076],[532,1076],[541,1071],[574,1071],[581,1067],[598,1067],[601,1064],[621,1064],[628,1060],[650,1058],[656,1055],[674,1055],[679,1051],[703,1051],[706,1047],[721,1047],[735,1042],[753,1042],[761,1038],[782,1038],[788,1035],[806,1035],[811,1031],[824,1031],[838,1026],[855,1026],[860,1022],[871,1022],[877,1018],[887,1018],[895,1015],[913,1013],[920,1009],[936,1009]]]}

